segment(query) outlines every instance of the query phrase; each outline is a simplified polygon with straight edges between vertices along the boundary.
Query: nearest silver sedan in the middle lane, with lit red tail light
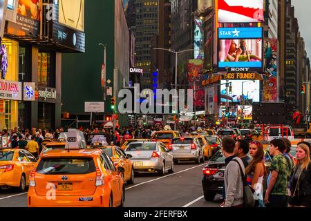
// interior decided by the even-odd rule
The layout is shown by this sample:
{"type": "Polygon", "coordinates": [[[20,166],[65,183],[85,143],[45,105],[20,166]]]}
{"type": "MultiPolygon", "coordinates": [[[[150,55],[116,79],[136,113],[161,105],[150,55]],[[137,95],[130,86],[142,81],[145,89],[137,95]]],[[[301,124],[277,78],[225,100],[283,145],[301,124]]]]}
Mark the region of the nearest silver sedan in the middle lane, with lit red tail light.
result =
{"type": "Polygon", "coordinates": [[[162,142],[133,142],[125,149],[131,155],[134,171],[174,172],[173,155],[162,142]]]}

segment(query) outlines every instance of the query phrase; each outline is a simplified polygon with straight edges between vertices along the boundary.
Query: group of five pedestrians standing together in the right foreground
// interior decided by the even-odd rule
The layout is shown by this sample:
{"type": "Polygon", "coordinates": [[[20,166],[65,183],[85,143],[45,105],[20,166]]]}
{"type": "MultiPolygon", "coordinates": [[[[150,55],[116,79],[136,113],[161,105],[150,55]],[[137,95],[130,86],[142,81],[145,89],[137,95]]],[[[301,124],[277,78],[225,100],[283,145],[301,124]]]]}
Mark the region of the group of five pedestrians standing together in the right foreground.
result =
{"type": "Polygon", "coordinates": [[[310,143],[299,143],[295,158],[290,155],[291,142],[288,139],[272,140],[269,149],[271,165],[265,165],[261,142],[234,142],[231,137],[224,137],[221,146],[225,156],[222,206],[245,206],[246,183],[252,189],[254,206],[311,207],[310,143]]]}

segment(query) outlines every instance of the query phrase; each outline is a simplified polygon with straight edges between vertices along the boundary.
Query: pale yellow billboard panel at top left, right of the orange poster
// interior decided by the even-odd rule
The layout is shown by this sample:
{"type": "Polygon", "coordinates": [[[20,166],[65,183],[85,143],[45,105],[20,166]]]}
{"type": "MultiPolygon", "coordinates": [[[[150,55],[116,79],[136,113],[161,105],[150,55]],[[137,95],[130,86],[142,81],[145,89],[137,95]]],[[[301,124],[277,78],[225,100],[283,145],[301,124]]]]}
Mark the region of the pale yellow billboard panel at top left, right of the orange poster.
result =
{"type": "Polygon", "coordinates": [[[58,22],[84,31],[84,0],[59,0],[58,22]]]}

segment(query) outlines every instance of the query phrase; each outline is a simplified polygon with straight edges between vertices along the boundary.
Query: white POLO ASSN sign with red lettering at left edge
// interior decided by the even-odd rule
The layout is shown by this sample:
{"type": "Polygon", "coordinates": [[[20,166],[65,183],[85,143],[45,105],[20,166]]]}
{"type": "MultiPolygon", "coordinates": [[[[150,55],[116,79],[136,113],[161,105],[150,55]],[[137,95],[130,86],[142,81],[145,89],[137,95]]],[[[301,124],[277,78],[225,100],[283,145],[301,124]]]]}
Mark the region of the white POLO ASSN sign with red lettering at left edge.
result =
{"type": "Polygon", "coordinates": [[[0,99],[21,101],[21,82],[0,80],[0,99]]]}

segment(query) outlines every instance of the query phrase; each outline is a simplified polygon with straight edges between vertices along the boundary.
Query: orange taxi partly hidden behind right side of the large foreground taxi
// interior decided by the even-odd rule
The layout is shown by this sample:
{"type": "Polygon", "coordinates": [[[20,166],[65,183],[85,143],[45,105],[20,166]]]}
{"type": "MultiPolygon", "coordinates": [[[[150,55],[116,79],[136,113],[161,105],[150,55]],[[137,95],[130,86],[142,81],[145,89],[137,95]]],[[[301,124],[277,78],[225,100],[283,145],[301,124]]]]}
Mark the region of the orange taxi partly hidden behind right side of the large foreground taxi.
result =
{"type": "Polygon", "coordinates": [[[101,145],[91,145],[91,148],[100,148],[111,158],[115,167],[122,166],[124,168],[124,173],[121,174],[123,181],[126,184],[134,183],[134,168],[133,162],[131,162],[131,155],[126,155],[122,148],[119,146],[101,146],[101,145]]]}

